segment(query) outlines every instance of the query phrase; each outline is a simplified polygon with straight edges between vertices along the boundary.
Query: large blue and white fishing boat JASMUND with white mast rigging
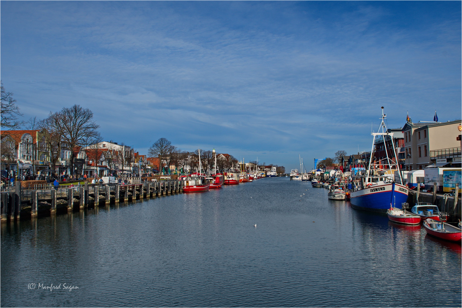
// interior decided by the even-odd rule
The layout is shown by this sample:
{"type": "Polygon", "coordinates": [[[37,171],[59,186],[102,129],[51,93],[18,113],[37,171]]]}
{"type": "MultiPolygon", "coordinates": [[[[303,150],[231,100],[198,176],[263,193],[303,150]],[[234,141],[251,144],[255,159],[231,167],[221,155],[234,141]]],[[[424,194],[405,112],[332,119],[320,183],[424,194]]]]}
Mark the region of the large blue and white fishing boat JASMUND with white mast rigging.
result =
{"type": "Polygon", "coordinates": [[[390,206],[401,208],[407,200],[408,188],[393,178],[394,172],[401,174],[401,170],[397,163],[393,133],[388,132],[385,117],[382,107],[382,121],[378,132],[371,133],[373,140],[369,167],[365,174],[357,176],[356,181],[353,181],[350,203],[355,209],[386,213],[390,206]],[[380,147],[382,143],[383,147],[380,147]],[[386,157],[372,161],[378,147],[382,151],[385,149],[386,157]]]}

